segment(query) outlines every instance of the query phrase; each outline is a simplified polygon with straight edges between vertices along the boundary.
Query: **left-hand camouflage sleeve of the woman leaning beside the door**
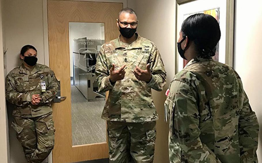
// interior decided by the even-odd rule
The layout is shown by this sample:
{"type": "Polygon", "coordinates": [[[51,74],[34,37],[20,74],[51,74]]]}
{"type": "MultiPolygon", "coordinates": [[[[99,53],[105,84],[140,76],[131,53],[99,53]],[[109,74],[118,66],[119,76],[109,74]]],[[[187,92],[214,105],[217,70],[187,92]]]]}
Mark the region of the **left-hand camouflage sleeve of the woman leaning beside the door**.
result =
{"type": "Polygon", "coordinates": [[[20,93],[16,91],[15,80],[9,73],[5,81],[5,97],[8,102],[16,106],[25,106],[30,104],[32,94],[29,92],[20,93]]]}

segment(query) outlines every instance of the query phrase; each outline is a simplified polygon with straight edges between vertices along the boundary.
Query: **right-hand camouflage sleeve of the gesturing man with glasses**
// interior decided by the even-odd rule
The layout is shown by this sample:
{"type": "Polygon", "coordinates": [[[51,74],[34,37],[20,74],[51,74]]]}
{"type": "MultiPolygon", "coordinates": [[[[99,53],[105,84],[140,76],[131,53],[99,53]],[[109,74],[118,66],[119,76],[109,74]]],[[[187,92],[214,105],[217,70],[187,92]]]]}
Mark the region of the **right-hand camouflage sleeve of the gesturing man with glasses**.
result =
{"type": "Polygon", "coordinates": [[[148,85],[154,90],[162,91],[166,84],[166,71],[163,60],[157,48],[153,48],[149,63],[152,79],[148,85]]]}

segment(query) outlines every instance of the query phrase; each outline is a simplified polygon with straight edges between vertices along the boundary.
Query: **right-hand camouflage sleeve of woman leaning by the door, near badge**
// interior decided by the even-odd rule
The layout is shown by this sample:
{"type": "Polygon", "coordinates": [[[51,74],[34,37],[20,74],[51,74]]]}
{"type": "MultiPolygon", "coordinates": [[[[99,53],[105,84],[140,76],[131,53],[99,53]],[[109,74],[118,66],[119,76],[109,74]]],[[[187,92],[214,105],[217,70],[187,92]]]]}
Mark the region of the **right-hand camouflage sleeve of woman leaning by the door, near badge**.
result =
{"type": "Polygon", "coordinates": [[[48,74],[48,85],[46,91],[41,93],[41,104],[51,102],[58,91],[58,81],[52,70],[48,74]]]}

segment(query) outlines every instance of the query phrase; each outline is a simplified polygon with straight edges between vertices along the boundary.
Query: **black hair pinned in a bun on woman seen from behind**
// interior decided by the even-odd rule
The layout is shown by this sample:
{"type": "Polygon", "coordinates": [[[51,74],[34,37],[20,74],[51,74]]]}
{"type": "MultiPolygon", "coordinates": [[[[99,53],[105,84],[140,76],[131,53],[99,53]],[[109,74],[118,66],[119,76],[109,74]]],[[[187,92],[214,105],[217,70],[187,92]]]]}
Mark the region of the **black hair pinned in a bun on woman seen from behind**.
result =
{"type": "Polygon", "coordinates": [[[219,23],[211,15],[197,13],[189,16],[182,24],[181,32],[189,41],[194,41],[196,51],[205,57],[213,57],[220,40],[219,23]]]}

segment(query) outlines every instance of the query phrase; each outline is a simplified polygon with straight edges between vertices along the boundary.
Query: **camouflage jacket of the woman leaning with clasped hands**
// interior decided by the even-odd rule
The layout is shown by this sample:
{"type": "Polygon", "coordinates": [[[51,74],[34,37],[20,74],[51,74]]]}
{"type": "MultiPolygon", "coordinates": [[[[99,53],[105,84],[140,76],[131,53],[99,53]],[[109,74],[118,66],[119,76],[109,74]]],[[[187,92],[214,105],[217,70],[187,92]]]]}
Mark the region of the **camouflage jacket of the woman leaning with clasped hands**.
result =
{"type": "Polygon", "coordinates": [[[22,64],[7,75],[5,89],[7,101],[15,105],[14,116],[38,117],[52,112],[51,101],[56,95],[58,82],[48,66],[36,64],[30,73],[22,64]],[[45,82],[45,92],[42,92],[41,82],[45,82]],[[33,94],[40,94],[40,104],[31,104],[33,94]]]}

